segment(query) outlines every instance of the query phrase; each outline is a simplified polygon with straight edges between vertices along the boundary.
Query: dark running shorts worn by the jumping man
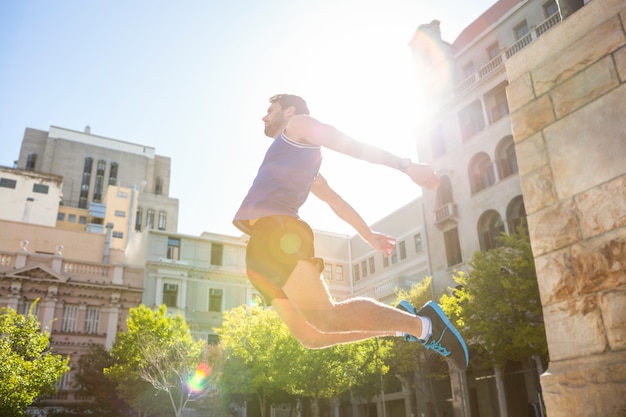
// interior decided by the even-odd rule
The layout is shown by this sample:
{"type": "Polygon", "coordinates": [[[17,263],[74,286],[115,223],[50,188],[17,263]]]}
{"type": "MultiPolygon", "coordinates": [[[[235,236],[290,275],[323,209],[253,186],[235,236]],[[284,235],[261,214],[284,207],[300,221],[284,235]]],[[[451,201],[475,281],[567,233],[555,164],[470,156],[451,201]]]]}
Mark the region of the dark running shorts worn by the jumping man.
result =
{"type": "Polygon", "coordinates": [[[275,298],[287,298],[282,287],[301,260],[315,262],[324,270],[324,261],[315,258],[313,231],[304,221],[291,216],[262,217],[254,223],[246,248],[250,282],[267,305],[275,298]]]}

